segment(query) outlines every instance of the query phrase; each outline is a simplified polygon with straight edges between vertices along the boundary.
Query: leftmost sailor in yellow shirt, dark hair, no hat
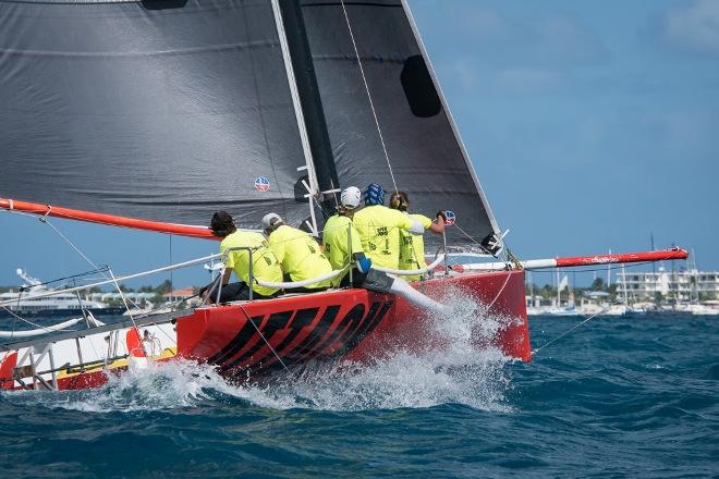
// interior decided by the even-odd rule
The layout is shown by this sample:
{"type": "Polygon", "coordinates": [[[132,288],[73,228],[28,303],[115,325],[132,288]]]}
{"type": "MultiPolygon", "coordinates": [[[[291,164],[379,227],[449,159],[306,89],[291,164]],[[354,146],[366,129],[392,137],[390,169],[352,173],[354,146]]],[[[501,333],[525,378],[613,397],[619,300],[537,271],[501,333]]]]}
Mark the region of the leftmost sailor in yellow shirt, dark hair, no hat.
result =
{"type": "MultiPolygon", "coordinates": [[[[227,211],[217,211],[212,216],[210,230],[217,237],[222,238],[220,253],[227,253],[224,260],[224,275],[221,279],[222,286],[209,284],[200,290],[200,296],[206,300],[217,300],[217,292],[220,290],[220,303],[231,300],[249,299],[249,253],[246,249],[231,250],[236,247],[253,248],[252,272],[253,278],[268,281],[281,282],[282,269],[275,254],[269,248],[267,240],[259,234],[248,231],[237,231],[234,220],[227,211]],[[240,282],[229,283],[234,271],[240,282]],[[211,292],[211,294],[210,294],[211,292]]],[[[253,282],[253,299],[266,299],[277,295],[278,290],[260,286],[253,282]]]]}

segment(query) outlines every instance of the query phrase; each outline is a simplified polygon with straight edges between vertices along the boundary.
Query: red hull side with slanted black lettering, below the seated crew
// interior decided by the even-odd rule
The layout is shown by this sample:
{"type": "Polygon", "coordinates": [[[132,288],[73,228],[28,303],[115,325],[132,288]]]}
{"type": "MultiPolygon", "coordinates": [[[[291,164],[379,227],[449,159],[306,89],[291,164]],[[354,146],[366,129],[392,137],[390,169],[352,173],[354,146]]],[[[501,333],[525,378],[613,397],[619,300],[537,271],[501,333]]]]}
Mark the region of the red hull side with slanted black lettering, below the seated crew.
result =
{"type": "MultiPolygon", "coordinates": [[[[492,320],[507,319],[493,343],[509,356],[531,360],[522,271],[463,274],[419,287],[442,302],[456,295],[482,302],[492,320]]],[[[371,360],[389,347],[441,347],[430,319],[402,298],[365,290],[211,307],[178,320],[178,353],[216,365],[228,377],[246,378],[310,360],[371,360]]],[[[485,346],[486,340],[477,335],[476,343],[485,346]]]]}

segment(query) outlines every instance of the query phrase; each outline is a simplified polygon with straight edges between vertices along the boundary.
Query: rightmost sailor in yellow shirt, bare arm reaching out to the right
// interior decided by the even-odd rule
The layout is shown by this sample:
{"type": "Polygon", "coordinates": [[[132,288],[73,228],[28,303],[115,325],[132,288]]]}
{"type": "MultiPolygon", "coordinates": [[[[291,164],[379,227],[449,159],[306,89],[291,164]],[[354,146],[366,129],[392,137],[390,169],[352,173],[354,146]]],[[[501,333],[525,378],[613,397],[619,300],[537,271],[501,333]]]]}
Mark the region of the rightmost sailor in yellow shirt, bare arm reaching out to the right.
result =
{"type": "MultiPolygon", "coordinates": [[[[431,231],[436,234],[444,233],[444,211],[438,211],[435,221],[424,214],[410,213],[410,196],[405,192],[394,192],[390,196],[390,208],[402,211],[413,220],[422,224],[425,231],[431,231]]],[[[426,266],[425,262],[425,241],[421,234],[412,234],[405,231],[400,232],[400,269],[415,270],[426,266]]],[[[419,274],[403,275],[407,281],[419,280],[419,274]]]]}

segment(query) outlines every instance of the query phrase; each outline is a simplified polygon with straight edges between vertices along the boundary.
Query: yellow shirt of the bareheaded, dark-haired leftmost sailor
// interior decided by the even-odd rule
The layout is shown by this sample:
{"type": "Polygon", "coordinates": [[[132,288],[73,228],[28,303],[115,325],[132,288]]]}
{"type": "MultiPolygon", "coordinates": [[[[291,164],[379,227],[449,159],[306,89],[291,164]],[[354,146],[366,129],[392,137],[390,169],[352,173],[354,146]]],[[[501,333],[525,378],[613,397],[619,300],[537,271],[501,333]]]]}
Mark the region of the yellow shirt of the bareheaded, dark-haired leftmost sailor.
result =
{"type": "MultiPolygon", "coordinates": [[[[243,246],[257,248],[252,253],[253,278],[271,282],[282,281],[282,269],[280,268],[280,262],[277,260],[275,254],[269,248],[265,236],[259,233],[235,231],[222,240],[222,243],[220,243],[220,253],[224,253],[229,248],[243,246]]],[[[240,280],[249,284],[249,253],[247,250],[228,253],[228,259],[224,262],[224,266],[231,268],[240,280]]],[[[254,292],[265,296],[270,296],[277,292],[277,290],[260,286],[257,283],[253,284],[252,288],[254,292]]]]}

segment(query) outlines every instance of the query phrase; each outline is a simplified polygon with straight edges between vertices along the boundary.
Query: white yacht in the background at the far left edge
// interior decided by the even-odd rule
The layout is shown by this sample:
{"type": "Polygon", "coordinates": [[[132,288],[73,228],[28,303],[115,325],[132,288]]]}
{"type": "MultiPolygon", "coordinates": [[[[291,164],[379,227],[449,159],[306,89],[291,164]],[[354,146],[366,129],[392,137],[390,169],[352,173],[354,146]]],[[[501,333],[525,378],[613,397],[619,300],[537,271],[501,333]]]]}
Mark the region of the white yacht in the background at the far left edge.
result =
{"type": "Polygon", "coordinates": [[[40,298],[26,298],[29,296],[29,293],[37,295],[53,290],[44,286],[39,280],[31,277],[26,271],[20,268],[16,270],[16,273],[24,283],[20,287],[20,291],[0,293],[0,302],[15,302],[9,306],[0,307],[0,318],[8,318],[13,315],[23,318],[40,316],[81,316],[83,310],[90,311],[94,316],[119,316],[125,311],[125,308],[122,306],[108,306],[100,302],[81,299],[77,296],[68,293],[40,298]]]}

